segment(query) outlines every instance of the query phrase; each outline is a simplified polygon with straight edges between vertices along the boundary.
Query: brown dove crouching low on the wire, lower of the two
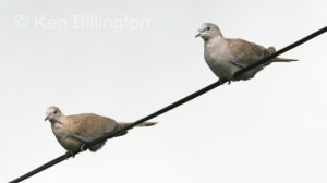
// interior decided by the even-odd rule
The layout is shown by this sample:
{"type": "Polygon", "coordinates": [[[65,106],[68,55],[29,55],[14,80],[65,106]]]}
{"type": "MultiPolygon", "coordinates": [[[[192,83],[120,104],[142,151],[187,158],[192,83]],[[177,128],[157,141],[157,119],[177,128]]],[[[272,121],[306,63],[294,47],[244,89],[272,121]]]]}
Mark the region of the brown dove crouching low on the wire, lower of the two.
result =
{"type": "MultiPolygon", "coordinates": [[[[52,132],[61,144],[70,154],[83,148],[83,146],[107,133],[118,131],[130,123],[116,122],[108,117],[101,117],[94,113],[81,113],[73,115],[64,115],[58,107],[51,106],[46,111],[45,121],[51,122],[52,132]]],[[[155,125],[155,122],[144,122],[137,126],[155,125]]],[[[117,136],[126,134],[122,132],[117,136]]],[[[89,147],[90,151],[96,151],[105,145],[99,143],[89,147]]]]}

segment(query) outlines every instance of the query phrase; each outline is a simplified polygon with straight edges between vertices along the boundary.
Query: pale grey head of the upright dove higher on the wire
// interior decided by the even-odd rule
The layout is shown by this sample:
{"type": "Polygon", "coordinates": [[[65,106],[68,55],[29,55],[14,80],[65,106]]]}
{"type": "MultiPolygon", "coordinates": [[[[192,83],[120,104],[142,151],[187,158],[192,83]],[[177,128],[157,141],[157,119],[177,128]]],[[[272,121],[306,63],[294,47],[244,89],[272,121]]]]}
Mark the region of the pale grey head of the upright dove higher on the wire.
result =
{"type": "Polygon", "coordinates": [[[196,37],[202,37],[204,40],[209,40],[214,37],[222,37],[219,27],[213,23],[203,23],[198,28],[198,34],[196,37]]]}

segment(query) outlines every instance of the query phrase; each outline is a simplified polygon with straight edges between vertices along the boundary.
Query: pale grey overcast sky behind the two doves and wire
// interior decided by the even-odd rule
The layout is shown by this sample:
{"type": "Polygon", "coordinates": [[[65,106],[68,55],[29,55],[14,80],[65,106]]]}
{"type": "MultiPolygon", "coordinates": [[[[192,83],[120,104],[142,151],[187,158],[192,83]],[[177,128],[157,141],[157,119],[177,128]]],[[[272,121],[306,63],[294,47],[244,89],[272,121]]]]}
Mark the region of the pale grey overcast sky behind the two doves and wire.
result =
{"type": "MultiPolygon", "coordinates": [[[[195,39],[203,22],[226,37],[280,49],[326,26],[324,0],[0,1],[0,182],[62,155],[47,107],[135,121],[217,78],[195,39]]],[[[326,35],[252,81],[165,113],[25,182],[325,183],[326,35]]]]}

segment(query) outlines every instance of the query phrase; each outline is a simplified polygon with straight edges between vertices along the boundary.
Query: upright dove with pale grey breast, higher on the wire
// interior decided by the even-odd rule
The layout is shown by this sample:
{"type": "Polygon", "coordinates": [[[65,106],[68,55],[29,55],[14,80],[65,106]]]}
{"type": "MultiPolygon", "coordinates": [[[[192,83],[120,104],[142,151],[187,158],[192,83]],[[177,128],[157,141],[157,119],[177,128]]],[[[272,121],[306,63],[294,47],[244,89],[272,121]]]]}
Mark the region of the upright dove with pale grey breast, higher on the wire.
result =
{"type": "Polygon", "coordinates": [[[274,53],[274,47],[264,48],[243,39],[225,38],[219,27],[213,23],[204,23],[195,37],[204,40],[204,57],[211,71],[222,81],[250,80],[271,62],[291,62],[296,59],[275,58],[246,73],[233,77],[234,73],[256,61],[274,53]]]}

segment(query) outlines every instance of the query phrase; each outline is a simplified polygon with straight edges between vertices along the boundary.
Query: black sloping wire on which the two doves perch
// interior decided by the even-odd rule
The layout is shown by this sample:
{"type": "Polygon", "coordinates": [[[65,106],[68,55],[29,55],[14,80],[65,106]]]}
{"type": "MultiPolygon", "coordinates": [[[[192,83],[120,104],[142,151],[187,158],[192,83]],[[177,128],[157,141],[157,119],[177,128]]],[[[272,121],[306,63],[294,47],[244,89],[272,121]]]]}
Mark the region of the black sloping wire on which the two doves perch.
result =
{"type": "MultiPolygon", "coordinates": [[[[307,41],[310,39],[313,39],[314,37],[320,35],[320,34],[323,34],[325,32],[327,32],[327,26],[323,27],[322,29],[318,29],[317,32],[315,32],[315,33],[313,33],[313,34],[311,34],[311,35],[308,35],[308,36],[306,36],[306,37],[304,37],[304,38],[302,38],[302,39],[300,39],[300,40],[298,40],[298,41],[295,41],[295,42],[293,42],[293,44],[291,44],[291,45],[282,48],[282,49],[280,49],[279,51],[276,51],[275,53],[272,53],[272,54],[270,54],[270,56],[268,56],[268,57],[266,57],[264,59],[261,59],[259,61],[257,61],[254,64],[249,65],[249,66],[246,66],[246,68],[244,68],[244,69],[235,72],[234,77],[238,77],[238,76],[244,74],[245,72],[247,72],[247,71],[250,71],[250,70],[252,70],[252,69],[254,69],[254,68],[256,68],[256,66],[258,66],[258,65],[261,65],[261,64],[263,64],[265,62],[267,62],[268,60],[270,60],[270,59],[272,59],[272,58],[275,58],[275,57],[277,57],[277,56],[279,56],[279,54],[281,54],[281,53],[283,53],[286,51],[289,51],[290,49],[293,49],[293,48],[295,48],[295,47],[304,44],[305,41],[307,41]]],[[[130,125],[128,125],[125,127],[120,129],[119,131],[116,131],[113,133],[108,133],[108,134],[106,134],[106,135],[104,135],[104,136],[95,139],[95,141],[90,142],[89,144],[86,144],[84,146],[84,149],[87,149],[88,147],[92,147],[92,146],[94,146],[94,145],[96,145],[98,143],[101,143],[101,142],[106,141],[106,139],[112,138],[116,135],[118,135],[118,134],[120,134],[120,133],[122,133],[124,131],[133,129],[137,124],[141,124],[141,123],[143,123],[145,121],[148,121],[148,120],[150,120],[153,118],[156,118],[156,117],[158,117],[158,115],[160,115],[160,114],[162,114],[165,112],[168,112],[168,111],[170,111],[170,110],[172,110],[172,109],[174,109],[174,108],[177,108],[177,107],[179,107],[179,106],[181,106],[181,105],[183,105],[183,103],[185,103],[185,102],[187,102],[187,101],[190,101],[190,100],[192,100],[192,99],[194,99],[194,98],[196,98],[196,97],[198,97],[198,96],[201,96],[201,95],[203,95],[203,94],[205,94],[205,93],[207,93],[207,91],[209,91],[209,90],[211,90],[211,89],[214,89],[214,88],[216,88],[216,87],[218,87],[218,86],[220,86],[222,84],[225,84],[226,82],[227,81],[215,82],[215,83],[213,83],[213,84],[210,84],[210,85],[208,85],[208,86],[206,86],[206,87],[204,87],[204,88],[202,88],[202,89],[199,89],[199,90],[197,90],[197,91],[195,91],[195,93],[193,93],[193,94],[191,94],[191,95],[189,95],[189,96],[186,96],[186,97],[184,97],[184,98],[182,98],[182,99],[180,99],[180,100],[178,100],[178,101],[175,101],[175,102],[173,102],[173,103],[171,103],[171,105],[169,105],[169,106],[167,106],[167,107],[165,107],[162,109],[159,109],[158,111],[156,111],[154,113],[150,113],[149,115],[146,115],[146,117],[144,117],[144,118],[135,121],[134,123],[131,123],[130,125]]],[[[80,152],[81,152],[81,150],[75,151],[74,155],[77,155],[80,152]]],[[[10,181],[10,183],[21,182],[21,181],[23,181],[23,180],[25,180],[25,179],[27,179],[27,178],[29,178],[29,176],[32,176],[34,174],[37,174],[37,173],[46,170],[47,168],[50,168],[50,167],[52,167],[52,166],[55,166],[55,164],[57,164],[57,163],[59,163],[59,162],[61,162],[61,161],[70,158],[70,157],[72,157],[72,156],[73,155],[71,155],[71,154],[64,154],[64,155],[62,155],[62,156],[60,156],[60,157],[58,157],[58,158],[56,158],[56,159],[53,159],[53,160],[45,163],[45,164],[36,168],[35,170],[32,170],[32,171],[27,172],[26,174],[24,174],[24,175],[22,175],[22,176],[20,176],[17,179],[15,179],[15,180],[10,181]]]]}

